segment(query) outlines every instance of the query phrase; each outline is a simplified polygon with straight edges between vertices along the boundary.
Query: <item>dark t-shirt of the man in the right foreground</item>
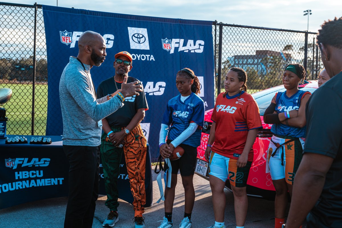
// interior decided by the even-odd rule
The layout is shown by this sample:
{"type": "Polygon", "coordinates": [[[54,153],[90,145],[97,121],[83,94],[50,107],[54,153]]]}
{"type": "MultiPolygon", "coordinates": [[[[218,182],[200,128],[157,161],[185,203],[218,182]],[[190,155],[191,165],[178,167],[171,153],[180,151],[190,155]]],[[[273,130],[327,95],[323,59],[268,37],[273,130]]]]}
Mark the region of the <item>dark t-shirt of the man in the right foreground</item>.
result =
{"type": "Polygon", "coordinates": [[[323,191],[308,216],[308,222],[320,228],[341,228],[342,72],[312,94],[305,114],[307,130],[303,153],[318,153],[334,159],[323,191]]]}

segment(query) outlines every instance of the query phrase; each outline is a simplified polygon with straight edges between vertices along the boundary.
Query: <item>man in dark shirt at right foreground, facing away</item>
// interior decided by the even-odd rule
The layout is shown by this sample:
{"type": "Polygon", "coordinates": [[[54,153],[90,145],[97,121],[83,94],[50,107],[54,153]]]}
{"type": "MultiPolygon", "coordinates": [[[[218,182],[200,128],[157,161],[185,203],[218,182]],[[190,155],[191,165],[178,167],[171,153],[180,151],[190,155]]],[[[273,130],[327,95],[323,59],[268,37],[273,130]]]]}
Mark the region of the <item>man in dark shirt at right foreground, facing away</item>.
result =
{"type": "Polygon", "coordinates": [[[317,44],[328,75],[306,108],[307,136],[286,228],[342,227],[342,17],[321,25],[317,44]]]}

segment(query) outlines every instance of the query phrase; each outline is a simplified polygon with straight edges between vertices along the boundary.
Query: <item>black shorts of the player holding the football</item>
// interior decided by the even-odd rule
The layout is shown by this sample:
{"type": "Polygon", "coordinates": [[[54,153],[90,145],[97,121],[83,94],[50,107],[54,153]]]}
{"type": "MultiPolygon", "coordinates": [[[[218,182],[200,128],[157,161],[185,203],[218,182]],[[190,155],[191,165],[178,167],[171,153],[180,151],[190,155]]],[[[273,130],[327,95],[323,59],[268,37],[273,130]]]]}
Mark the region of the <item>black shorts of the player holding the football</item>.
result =
{"type": "MultiPolygon", "coordinates": [[[[171,140],[167,140],[167,144],[170,144],[171,140]]],[[[172,174],[178,174],[180,171],[181,176],[191,176],[195,173],[197,147],[181,144],[179,145],[184,149],[184,154],[180,159],[173,160],[171,162],[172,174]]]]}

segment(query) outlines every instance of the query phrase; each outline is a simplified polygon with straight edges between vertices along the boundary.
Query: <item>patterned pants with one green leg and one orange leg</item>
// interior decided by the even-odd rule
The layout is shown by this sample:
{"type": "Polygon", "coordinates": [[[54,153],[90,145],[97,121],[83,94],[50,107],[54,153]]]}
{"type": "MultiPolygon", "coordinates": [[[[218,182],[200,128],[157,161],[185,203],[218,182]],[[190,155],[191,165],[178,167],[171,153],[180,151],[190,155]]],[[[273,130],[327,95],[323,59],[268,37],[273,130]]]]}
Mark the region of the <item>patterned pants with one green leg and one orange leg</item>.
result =
{"type": "MultiPolygon", "coordinates": [[[[119,132],[122,128],[111,127],[113,132],[119,132]]],[[[133,207],[135,212],[144,213],[143,205],[146,203],[145,193],[145,165],[146,165],[146,138],[140,127],[136,126],[126,137],[126,143],[123,148],[115,147],[105,138],[107,134],[101,137],[101,159],[103,175],[105,180],[105,190],[107,200],[105,205],[110,211],[117,211],[118,187],[117,180],[119,176],[119,167],[122,152],[126,159],[126,167],[133,195],[133,207]]],[[[138,213],[139,214],[139,213],[138,213]]]]}

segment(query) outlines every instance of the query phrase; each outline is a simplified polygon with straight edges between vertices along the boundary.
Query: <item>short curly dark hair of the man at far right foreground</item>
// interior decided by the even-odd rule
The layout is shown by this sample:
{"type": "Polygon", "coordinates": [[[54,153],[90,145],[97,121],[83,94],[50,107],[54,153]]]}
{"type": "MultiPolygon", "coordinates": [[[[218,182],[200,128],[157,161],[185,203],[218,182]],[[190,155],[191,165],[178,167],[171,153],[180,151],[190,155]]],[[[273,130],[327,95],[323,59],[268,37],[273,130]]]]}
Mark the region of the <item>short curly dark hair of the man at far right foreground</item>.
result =
{"type": "Polygon", "coordinates": [[[324,21],[321,29],[318,30],[316,40],[319,47],[323,43],[342,49],[342,17],[324,21]]]}

